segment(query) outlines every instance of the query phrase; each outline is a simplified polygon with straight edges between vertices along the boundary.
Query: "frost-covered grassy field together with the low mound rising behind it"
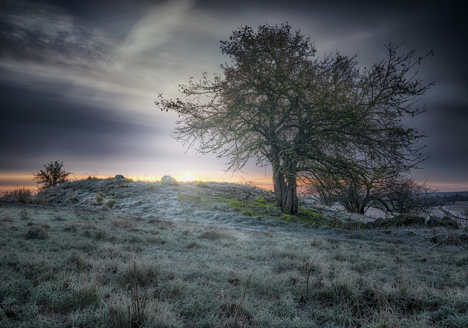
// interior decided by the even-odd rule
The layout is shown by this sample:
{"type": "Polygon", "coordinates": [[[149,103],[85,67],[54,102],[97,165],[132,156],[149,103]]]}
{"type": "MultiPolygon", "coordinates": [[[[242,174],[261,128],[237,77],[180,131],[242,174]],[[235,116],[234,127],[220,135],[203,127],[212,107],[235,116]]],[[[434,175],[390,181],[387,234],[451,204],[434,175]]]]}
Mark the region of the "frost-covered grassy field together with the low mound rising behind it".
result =
{"type": "Polygon", "coordinates": [[[39,198],[0,202],[0,327],[468,326],[465,230],[345,230],[310,203],[281,219],[267,191],[222,183],[39,198]]]}

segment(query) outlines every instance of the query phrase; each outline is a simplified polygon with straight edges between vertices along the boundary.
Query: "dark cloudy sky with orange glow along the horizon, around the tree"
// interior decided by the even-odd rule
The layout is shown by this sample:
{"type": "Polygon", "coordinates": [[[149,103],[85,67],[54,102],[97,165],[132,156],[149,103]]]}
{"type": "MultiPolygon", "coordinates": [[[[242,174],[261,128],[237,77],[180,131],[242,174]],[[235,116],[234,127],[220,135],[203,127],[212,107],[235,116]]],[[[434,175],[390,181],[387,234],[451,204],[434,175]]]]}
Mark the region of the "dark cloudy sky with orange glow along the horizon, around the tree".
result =
{"type": "Polygon", "coordinates": [[[430,50],[418,66],[435,81],[427,111],[405,118],[429,137],[429,158],[412,175],[439,191],[468,190],[468,62],[457,2],[3,0],[0,4],[0,192],[35,187],[32,172],[63,161],[77,176],[134,179],[262,179],[271,167],[224,172],[227,161],[197,154],[171,136],[178,119],[158,93],[178,97],[190,77],[221,73],[219,41],[248,25],[288,22],[317,54],[357,54],[359,67],[401,52],[430,50]]]}

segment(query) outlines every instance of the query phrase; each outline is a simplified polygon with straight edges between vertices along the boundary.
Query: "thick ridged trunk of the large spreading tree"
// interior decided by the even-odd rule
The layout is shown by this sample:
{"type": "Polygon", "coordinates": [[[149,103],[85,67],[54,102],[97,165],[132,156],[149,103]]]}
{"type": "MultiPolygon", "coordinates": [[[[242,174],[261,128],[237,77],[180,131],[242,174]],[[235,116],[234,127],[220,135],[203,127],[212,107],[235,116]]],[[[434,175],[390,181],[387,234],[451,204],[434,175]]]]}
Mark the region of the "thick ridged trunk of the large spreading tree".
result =
{"type": "Polygon", "coordinates": [[[285,175],[273,165],[273,188],[275,191],[276,205],[283,213],[297,215],[299,201],[297,198],[297,182],[295,174],[285,175]]]}

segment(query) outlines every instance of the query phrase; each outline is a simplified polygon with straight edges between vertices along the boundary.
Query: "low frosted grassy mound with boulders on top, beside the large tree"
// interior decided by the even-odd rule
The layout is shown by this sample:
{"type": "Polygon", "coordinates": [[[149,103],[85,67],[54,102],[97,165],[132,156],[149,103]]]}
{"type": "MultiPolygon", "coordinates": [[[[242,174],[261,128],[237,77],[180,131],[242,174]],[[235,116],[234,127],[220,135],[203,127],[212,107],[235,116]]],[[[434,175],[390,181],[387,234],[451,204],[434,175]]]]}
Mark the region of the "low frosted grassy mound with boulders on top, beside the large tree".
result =
{"type": "MultiPolygon", "coordinates": [[[[270,214],[274,194],[254,186],[224,182],[182,182],[163,186],[160,182],[120,179],[85,179],[73,181],[37,195],[44,205],[90,211],[117,211],[142,217],[155,217],[225,228],[253,231],[278,231],[314,235],[312,224],[282,220],[270,214]],[[200,201],[182,201],[178,193],[200,197],[200,201]]],[[[372,218],[350,214],[301,200],[300,207],[327,220],[360,220],[372,218]]]]}

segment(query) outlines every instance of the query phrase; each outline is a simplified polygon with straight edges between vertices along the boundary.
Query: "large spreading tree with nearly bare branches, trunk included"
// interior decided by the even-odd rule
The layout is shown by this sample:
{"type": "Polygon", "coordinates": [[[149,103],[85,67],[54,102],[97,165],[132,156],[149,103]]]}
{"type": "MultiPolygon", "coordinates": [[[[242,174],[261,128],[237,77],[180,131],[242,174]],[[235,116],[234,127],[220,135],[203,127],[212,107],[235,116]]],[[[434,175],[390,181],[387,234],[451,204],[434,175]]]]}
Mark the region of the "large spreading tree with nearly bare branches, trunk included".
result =
{"type": "Polygon", "coordinates": [[[182,98],[160,94],[155,104],[181,117],[176,139],[227,157],[227,170],[241,170],[250,158],[271,164],[277,205],[296,214],[303,177],[364,170],[368,161],[417,162],[421,154],[412,145],[423,135],[399,119],[424,111],[412,105],[431,83],[405,78],[414,51],[397,56],[390,43],[388,60],[360,71],[356,56],[314,58],[314,43],[290,29],[286,23],[233,31],[221,41],[231,59],[220,66],[222,75],[190,78],[179,86],[182,98]]]}

